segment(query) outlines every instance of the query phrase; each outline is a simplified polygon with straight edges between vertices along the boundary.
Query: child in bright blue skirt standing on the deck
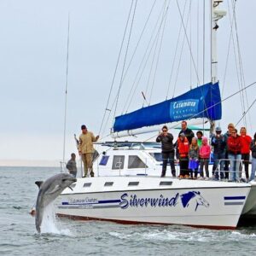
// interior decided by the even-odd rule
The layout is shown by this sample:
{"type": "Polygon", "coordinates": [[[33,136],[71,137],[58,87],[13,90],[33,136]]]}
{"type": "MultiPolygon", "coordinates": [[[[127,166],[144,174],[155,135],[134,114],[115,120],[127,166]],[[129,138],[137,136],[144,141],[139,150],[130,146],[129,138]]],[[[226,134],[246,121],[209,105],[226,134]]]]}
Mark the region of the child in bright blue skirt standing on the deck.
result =
{"type": "Polygon", "coordinates": [[[189,145],[189,171],[190,171],[191,178],[193,178],[193,172],[195,172],[194,177],[197,178],[198,158],[199,158],[199,147],[197,144],[197,138],[193,137],[191,144],[189,145]]]}

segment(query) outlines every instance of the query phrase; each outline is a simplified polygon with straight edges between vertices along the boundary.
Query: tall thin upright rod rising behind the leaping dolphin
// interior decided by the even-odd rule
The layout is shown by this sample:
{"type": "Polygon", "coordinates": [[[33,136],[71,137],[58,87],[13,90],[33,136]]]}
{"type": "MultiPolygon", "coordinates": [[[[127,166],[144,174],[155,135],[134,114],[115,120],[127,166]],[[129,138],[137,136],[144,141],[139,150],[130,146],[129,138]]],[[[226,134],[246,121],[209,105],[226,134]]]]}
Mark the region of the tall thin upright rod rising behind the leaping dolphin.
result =
{"type": "MultiPolygon", "coordinates": [[[[68,84],[68,58],[69,58],[69,31],[70,31],[70,13],[68,13],[67,21],[67,57],[66,57],[66,84],[65,84],[65,107],[64,107],[64,131],[63,131],[63,155],[62,162],[65,163],[66,154],[66,128],[67,128],[67,84],[68,84]]],[[[61,168],[62,172],[62,168],[61,168]]]]}

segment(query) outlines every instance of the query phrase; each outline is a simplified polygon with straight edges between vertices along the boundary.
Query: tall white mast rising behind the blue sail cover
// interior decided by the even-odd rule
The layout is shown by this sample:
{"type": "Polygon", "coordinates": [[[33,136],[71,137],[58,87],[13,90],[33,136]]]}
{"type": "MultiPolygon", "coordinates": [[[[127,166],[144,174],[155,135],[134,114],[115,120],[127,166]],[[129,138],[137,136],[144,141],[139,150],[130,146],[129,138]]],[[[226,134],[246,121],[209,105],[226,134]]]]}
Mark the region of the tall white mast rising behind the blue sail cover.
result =
{"type": "MultiPolygon", "coordinates": [[[[212,84],[218,82],[218,58],[217,58],[217,30],[218,20],[226,15],[226,11],[218,9],[218,5],[223,3],[223,0],[210,0],[211,1],[211,81],[212,84]]],[[[212,135],[215,128],[215,121],[210,120],[210,134],[212,135]]]]}

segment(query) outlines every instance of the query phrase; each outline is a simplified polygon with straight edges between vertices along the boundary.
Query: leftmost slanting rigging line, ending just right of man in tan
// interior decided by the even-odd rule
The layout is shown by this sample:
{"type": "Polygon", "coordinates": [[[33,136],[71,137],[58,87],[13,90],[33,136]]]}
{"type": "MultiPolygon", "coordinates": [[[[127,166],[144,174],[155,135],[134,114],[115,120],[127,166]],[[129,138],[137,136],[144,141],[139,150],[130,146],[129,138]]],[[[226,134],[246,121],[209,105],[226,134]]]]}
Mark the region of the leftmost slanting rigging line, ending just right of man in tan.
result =
{"type": "MultiPolygon", "coordinates": [[[[106,108],[105,108],[105,111],[104,111],[104,114],[103,114],[103,118],[102,118],[102,124],[101,124],[100,130],[98,132],[99,135],[102,132],[102,126],[104,124],[106,113],[108,112],[108,119],[109,119],[110,113],[112,111],[112,108],[110,108],[110,109],[108,108],[108,104],[109,104],[109,101],[110,101],[110,97],[112,95],[113,84],[114,84],[114,81],[115,81],[115,78],[116,78],[116,73],[117,73],[117,70],[118,70],[118,67],[119,67],[119,61],[120,61],[120,57],[121,57],[121,54],[122,54],[122,49],[123,49],[123,46],[125,44],[125,35],[126,35],[126,31],[127,31],[128,25],[129,25],[129,20],[130,20],[130,17],[131,17],[132,6],[133,6],[133,0],[131,1],[131,7],[130,7],[130,10],[129,10],[128,18],[127,18],[126,23],[125,23],[125,32],[124,32],[124,35],[123,35],[123,38],[122,38],[122,43],[121,43],[121,46],[120,46],[120,49],[119,49],[118,60],[117,60],[117,63],[116,63],[115,69],[114,69],[114,73],[113,73],[113,79],[112,79],[111,87],[110,87],[109,94],[108,94],[107,105],[106,105],[106,108]]],[[[103,132],[105,131],[106,125],[108,123],[108,119],[105,123],[105,127],[103,128],[103,132]]]]}

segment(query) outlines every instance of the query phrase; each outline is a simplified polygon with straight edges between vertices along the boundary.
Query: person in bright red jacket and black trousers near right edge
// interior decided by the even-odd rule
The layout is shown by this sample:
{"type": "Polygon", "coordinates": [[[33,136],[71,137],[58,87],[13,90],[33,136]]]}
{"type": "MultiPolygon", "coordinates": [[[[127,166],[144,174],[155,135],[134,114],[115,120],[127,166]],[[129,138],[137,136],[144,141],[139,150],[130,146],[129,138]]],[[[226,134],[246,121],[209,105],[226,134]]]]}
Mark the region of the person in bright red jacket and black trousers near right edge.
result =
{"type": "MultiPolygon", "coordinates": [[[[245,170],[247,181],[248,181],[249,180],[248,169],[249,169],[249,160],[250,160],[250,144],[252,142],[252,137],[247,135],[246,127],[241,127],[240,137],[241,137],[241,160],[242,160],[242,164],[244,165],[244,170],[245,170]]],[[[240,166],[240,169],[242,169],[242,165],[240,166]]]]}

